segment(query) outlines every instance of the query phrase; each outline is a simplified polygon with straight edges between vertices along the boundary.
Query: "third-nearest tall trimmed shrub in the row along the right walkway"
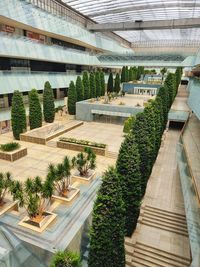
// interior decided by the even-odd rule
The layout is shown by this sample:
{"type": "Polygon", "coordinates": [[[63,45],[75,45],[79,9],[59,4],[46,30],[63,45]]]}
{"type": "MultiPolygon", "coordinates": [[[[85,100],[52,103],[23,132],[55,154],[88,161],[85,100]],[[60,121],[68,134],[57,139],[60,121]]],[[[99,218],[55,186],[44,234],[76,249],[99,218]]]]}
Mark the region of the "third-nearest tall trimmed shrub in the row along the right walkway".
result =
{"type": "Polygon", "coordinates": [[[144,112],[136,115],[136,120],[133,125],[133,134],[135,135],[140,154],[140,171],[142,174],[141,190],[142,195],[144,195],[151,170],[151,143],[148,135],[148,121],[146,120],[144,112]]]}

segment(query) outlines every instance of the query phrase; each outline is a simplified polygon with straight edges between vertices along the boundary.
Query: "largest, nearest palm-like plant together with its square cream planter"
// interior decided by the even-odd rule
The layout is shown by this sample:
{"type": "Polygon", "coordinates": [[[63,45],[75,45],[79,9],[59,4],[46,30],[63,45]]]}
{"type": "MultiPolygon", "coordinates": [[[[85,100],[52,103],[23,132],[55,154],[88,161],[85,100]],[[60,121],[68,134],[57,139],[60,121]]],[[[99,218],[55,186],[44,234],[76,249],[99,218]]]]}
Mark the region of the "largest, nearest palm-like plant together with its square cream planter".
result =
{"type": "Polygon", "coordinates": [[[13,181],[10,192],[19,207],[25,208],[26,216],[19,225],[42,232],[56,217],[47,209],[53,194],[53,183],[48,177],[43,182],[39,176],[28,178],[24,183],[13,181]]]}

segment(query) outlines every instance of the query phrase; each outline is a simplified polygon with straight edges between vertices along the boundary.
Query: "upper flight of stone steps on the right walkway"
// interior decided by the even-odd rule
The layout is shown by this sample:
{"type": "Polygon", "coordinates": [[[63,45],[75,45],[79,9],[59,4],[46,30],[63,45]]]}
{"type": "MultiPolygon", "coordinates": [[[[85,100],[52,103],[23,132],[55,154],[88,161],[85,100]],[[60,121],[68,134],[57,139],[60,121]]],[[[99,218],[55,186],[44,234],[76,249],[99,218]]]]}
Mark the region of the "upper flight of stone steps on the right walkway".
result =
{"type": "Polygon", "coordinates": [[[186,217],[183,214],[158,209],[151,206],[141,208],[138,222],[150,227],[188,237],[186,217]]]}

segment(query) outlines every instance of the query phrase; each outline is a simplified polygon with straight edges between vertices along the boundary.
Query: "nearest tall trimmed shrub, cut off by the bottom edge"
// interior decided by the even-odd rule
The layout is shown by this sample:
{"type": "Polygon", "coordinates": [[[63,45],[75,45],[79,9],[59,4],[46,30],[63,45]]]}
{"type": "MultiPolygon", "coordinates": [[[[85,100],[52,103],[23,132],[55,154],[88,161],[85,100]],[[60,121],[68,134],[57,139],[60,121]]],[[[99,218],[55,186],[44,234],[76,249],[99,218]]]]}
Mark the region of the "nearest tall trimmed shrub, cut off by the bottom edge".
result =
{"type": "Polygon", "coordinates": [[[124,203],[116,171],[105,172],[93,208],[89,267],[125,266],[124,203]]]}

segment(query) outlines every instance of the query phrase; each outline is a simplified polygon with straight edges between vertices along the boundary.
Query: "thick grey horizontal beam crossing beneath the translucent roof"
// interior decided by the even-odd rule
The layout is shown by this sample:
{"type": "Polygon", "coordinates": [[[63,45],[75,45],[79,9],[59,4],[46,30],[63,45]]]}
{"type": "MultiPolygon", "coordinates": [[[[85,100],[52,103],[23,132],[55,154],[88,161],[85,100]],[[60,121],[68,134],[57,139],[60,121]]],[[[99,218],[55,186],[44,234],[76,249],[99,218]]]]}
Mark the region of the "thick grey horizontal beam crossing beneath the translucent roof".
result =
{"type": "Polygon", "coordinates": [[[134,22],[87,25],[88,30],[95,32],[187,29],[187,28],[199,28],[199,27],[200,27],[200,18],[152,20],[152,21],[137,20],[134,22]]]}

